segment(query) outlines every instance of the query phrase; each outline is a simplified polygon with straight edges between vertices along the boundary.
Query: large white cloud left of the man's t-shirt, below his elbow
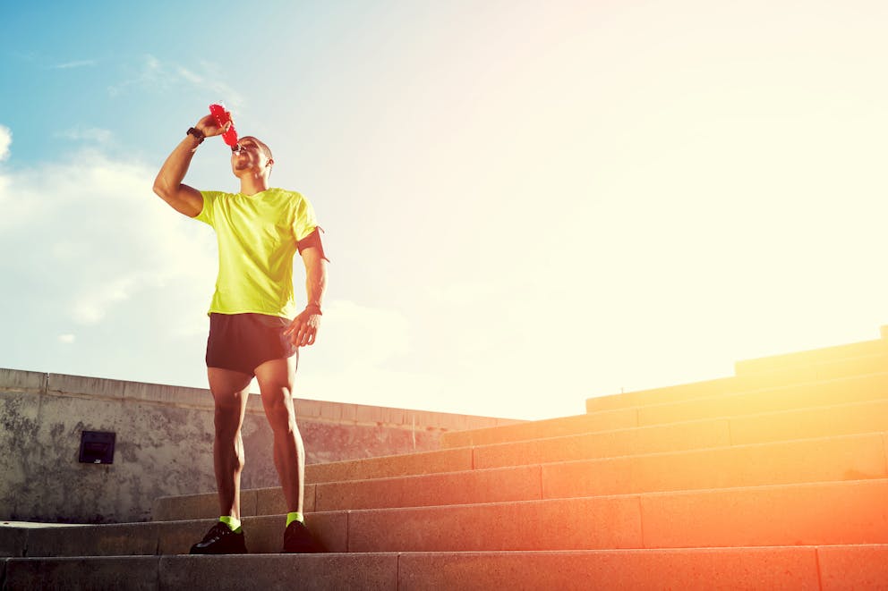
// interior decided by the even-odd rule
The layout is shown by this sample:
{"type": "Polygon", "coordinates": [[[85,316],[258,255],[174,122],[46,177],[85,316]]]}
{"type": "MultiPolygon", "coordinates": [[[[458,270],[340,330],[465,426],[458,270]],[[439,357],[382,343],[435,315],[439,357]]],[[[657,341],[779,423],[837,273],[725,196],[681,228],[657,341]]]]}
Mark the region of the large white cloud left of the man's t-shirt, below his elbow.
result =
{"type": "Polygon", "coordinates": [[[95,151],[0,173],[0,249],[22,253],[4,266],[57,289],[53,305],[80,325],[96,325],[112,309],[168,283],[183,285],[196,306],[205,305],[216,270],[209,228],[185,229],[202,224],[153,194],[154,174],[95,151]],[[21,249],[25,242],[29,247],[21,249]]]}

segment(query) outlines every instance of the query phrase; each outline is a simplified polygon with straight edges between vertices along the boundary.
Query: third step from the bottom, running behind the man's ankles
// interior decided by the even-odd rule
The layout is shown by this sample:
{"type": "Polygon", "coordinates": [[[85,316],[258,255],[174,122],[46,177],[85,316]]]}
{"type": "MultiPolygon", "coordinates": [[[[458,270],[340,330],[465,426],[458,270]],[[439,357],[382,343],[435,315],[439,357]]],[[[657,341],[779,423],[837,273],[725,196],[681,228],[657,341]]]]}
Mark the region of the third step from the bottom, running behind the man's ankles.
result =
{"type": "MultiPolygon", "coordinates": [[[[886,455],[888,433],[873,433],[436,475],[347,480],[320,483],[306,489],[305,511],[531,501],[885,478],[888,477],[886,455]]],[[[276,501],[265,505],[274,509],[242,503],[243,515],[286,512],[279,488],[244,491],[242,497],[254,499],[257,492],[269,497],[274,493],[276,501]]],[[[218,517],[217,495],[201,494],[180,503],[170,498],[157,520],[215,517],[218,517]]]]}

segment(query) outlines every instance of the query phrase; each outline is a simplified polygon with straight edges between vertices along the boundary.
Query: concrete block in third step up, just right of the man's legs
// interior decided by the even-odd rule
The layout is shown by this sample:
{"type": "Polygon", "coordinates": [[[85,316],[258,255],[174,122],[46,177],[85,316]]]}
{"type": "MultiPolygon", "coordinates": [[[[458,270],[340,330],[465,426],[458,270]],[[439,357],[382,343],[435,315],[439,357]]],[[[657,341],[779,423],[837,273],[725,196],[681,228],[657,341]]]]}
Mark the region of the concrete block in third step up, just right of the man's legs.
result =
{"type": "Polygon", "coordinates": [[[318,511],[428,507],[542,498],[539,466],[351,480],[317,486],[318,511]]]}

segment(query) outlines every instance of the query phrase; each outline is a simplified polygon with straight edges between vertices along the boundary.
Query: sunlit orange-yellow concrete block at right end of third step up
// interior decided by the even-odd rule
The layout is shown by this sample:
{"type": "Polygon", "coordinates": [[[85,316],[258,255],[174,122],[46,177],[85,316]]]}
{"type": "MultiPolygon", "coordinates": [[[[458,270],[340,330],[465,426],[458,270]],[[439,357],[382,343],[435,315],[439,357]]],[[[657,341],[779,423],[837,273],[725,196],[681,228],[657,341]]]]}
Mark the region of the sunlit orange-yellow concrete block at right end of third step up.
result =
{"type": "Polygon", "coordinates": [[[542,465],[543,498],[888,477],[880,434],[542,465]]]}

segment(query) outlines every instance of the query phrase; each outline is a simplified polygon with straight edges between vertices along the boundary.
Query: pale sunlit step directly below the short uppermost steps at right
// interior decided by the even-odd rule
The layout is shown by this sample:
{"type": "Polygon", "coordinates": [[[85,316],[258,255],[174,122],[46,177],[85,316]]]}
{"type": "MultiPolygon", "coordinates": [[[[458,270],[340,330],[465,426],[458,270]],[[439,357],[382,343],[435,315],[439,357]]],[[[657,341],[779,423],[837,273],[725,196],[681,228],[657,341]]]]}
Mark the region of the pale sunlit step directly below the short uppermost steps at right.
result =
{"type": "Polygon", "coordinates": [[[635,392],[596,396],[586,400],[586,412],[640,407],[647,404],[684,401],[717,394],[730,394],[815,383],[841,377],[882,373],[888,369],[888,350],[875,355],[824,361],[809,366],[775,368],[767,373],[745,372],[690,384],[662,386],[635,392]]]}

